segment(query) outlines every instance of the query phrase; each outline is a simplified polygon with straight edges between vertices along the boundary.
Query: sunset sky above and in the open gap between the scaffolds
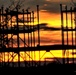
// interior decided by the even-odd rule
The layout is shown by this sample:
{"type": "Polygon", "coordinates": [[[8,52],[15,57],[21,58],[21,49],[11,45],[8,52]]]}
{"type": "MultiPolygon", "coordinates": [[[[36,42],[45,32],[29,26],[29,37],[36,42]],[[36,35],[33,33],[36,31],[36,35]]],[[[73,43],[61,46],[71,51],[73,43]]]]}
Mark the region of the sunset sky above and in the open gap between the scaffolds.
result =
{"type": "MultiPolygon", "coordinates": [[[[5,5],[4,7],[8,7],[13,0],[0,0],[0,6],[5,5]]],[[[17,0],[14,0],[15,2],[17,0]]],[[[21,0],[24,1],[22,4],[22,8],[27,9],[30,7],[30,11],[34,11],[36,13],[36,5],[39,5],[39,23],[45,23],[48,27],[60,28],[61,27],[61,15],[60,15],[60,4],[68,5],[68,8],[72,6],[71,0],[21,0]]],[[[75,0],[73,0],[75,2],[75,0]]],[[[41,34],[41,44],[61,44],[61,31],[40,31],[41,34]],[[46,36],[47,35],[47,36],[46,36]]],[[[50,51],[55,57],[62,57],[62,51],[50,51]]],[[[45,53],[45,51],[41,52],[41,55],[45,53]]],[[[54,57],[50,53],[46,53],[45,57],[54,57]]],[[[38,60],[38,52],[36,52],[36,60],[38,60]]],[[[43,59],[44,59],[43,58],[43,59]]]]}

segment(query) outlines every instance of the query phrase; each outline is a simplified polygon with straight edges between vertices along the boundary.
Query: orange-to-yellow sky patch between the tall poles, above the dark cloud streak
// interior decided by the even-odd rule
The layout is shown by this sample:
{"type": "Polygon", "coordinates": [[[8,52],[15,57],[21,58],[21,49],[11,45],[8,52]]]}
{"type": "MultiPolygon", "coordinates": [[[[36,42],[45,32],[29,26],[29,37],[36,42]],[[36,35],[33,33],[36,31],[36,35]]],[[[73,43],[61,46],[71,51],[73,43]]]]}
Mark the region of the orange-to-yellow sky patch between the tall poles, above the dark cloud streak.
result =
{"type": "Polygon", "coordinates": [[[60,14],[40,12],[40,23],[48,23],[49,26],[61,27],[60,14]]]}

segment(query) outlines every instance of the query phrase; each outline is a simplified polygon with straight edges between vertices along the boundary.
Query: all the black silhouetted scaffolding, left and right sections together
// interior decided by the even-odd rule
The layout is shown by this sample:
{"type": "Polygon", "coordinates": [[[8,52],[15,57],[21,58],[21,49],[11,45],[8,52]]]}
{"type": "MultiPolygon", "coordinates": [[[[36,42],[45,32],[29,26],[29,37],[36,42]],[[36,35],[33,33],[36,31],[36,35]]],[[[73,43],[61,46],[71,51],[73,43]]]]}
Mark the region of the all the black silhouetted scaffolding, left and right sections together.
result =
{"type": "MultiPolygon", "coordinates": [[[[15,10],[11,10],[9,8],[4,9],[2,6],[0,8],[0,67],[41,66],[42,62],[40,60],[43,58],[46,52],[52,54],[50,50],[62,50],[62,62],[63,64],[69,64],[70,49],[72,50],[72,63],[74,64],[74,53],[76,49],[76,8],[70,7],[70,10],[68,10],[67,6],[65,6],[65,9],[63,9],[62,4],[60,4],[60,10],[62,44],[41,46],[39,5],[37,5],[37,26],[34,24],[34,11],[30,11],[29,9],[19,10],[18,7],[15,10]],[[69,15],[70,18],[68,17],[69,15]],[[71,43],[69,43],[69,32],[71,33],[71,43]],[[21,38],[21,36],[23,38],[21,38]],[[44,50],[45,52],[41,56],[40,51],[44,50]],[[39,61],[35,61],[35,51],[38,51],[39,61]],[[24,53],[21,54],[21,52],[24,53]],[[14,63],[15,57],[17,58],[17,63],[14,63]],[[21,58],[23,59],[22,63],[21,58]]],[[[54,59],[61,64],[55,56],[54,59]]],[[[45,61],[44,64],[46,64],[45,61]]]]}

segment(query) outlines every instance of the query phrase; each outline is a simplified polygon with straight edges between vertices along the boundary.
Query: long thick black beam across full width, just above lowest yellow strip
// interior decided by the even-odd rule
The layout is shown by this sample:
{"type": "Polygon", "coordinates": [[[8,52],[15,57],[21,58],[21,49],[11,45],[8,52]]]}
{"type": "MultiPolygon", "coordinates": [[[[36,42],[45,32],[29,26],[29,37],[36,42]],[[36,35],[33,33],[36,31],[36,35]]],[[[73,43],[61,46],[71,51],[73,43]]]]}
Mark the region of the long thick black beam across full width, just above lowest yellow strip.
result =
{"type": "Polygon", "coordinates": [[[70,50],[76,49],[76,46],[72,45],[44,45],[37,47],[19,47],[19,48],[1,48],[0,52],[20,52],[20,51],[43,51],[47,52],[50,50],[70,50]]]}

